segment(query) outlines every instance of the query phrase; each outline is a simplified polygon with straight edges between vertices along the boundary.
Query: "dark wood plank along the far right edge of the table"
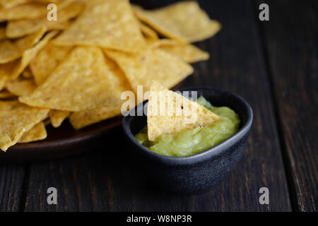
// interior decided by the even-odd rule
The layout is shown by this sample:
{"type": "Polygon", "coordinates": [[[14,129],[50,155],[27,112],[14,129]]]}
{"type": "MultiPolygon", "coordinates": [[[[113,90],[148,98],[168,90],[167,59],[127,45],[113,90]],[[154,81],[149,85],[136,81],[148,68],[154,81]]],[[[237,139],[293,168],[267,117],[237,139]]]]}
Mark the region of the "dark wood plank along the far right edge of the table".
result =
{"type": "MultiPolygon", "coordinates": [[[[261,2],[261,1],[259,1],[261,2]]],[[[260,23],[296,210],[318,210],[318,2],[267,1],[260,23]]]]}

